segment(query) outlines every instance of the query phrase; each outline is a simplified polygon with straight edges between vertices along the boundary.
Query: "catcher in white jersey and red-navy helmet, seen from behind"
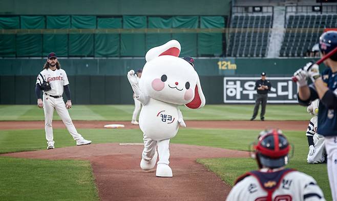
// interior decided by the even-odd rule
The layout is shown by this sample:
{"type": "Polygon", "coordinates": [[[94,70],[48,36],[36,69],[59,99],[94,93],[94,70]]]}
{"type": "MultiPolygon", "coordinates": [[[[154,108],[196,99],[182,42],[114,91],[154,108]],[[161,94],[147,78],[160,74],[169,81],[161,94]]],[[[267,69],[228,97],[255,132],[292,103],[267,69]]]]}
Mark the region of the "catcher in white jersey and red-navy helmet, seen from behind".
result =
{"type": "Polygon", "coordinates": [[[280,130],[260,134],[251,153],[257,160],[259,170],[240,176],[226,200],[325,200],[314,178],[284,167],[288,162],[289,150],[288,140],[280,130]]]}

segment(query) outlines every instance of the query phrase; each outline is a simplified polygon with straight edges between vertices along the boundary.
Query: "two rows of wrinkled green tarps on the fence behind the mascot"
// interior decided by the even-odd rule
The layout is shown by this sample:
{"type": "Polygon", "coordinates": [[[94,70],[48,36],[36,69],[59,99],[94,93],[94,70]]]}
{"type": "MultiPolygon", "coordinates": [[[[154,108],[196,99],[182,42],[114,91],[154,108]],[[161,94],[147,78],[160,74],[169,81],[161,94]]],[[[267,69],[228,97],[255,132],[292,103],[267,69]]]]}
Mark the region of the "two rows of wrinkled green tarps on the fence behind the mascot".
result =
{"type": "Polygon", "coordinates": [[[171,39],[181,43],[181,55],[219,56],[222,33],[209,33],[209,29],[224,27],[223,16],[0,17],[0,57],[41,57],[52,51],[65,57],[143,57],[149,49],[171,39]],[[198,28],[208,31],[197,33],[198,28]]]}

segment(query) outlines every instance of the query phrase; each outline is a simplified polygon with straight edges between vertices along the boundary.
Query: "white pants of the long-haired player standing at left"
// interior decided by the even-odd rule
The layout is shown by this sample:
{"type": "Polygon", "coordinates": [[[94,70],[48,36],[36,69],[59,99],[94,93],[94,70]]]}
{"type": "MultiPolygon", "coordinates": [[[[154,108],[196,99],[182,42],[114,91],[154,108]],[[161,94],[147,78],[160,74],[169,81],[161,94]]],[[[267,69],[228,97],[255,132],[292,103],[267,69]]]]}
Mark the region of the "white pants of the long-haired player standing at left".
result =
{"type": "Polygon", "coordinates": [[[53,121],[53,113],[54,109],[58,113],[58,115],[61,117],[62,122],[67,127],[69,133],[73,136],[75,140],[82,139],[82,135],[80,135],[71,118],[69,115],[69,112],[66,108],[65,102],[62,98],[53,98],[50,96],[43,96],[43,103],[44,103],[44,111],[45,111],[45,130],[46,130],[46,139],[47,143],[54,143],[54,136],[53,136],[53,127],[52,127],[52,121],[53,121]]]}

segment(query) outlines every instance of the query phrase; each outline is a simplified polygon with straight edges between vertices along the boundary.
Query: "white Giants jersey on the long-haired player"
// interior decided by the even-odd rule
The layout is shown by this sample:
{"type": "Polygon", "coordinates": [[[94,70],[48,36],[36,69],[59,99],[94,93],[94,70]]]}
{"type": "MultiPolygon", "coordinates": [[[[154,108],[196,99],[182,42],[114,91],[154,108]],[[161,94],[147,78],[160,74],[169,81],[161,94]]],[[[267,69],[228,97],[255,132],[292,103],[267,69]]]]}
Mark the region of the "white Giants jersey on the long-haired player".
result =
{"type": "MultiPolygon", "coordinates": [[[[37,75],[36,84],[40,85],[43,83],[43,79],[46,82],[50,83],[51,90],[46,91],[46,93],[50,95],[62,95],[63,94],[63,86],[69,85],[68,77],[66,71],[63,69],[44,69],[37,75]],[[43,78],[41,75],[43,75],[43,78]]],[[[44,91],[45,92],[45,91],[44,91]]]]}

